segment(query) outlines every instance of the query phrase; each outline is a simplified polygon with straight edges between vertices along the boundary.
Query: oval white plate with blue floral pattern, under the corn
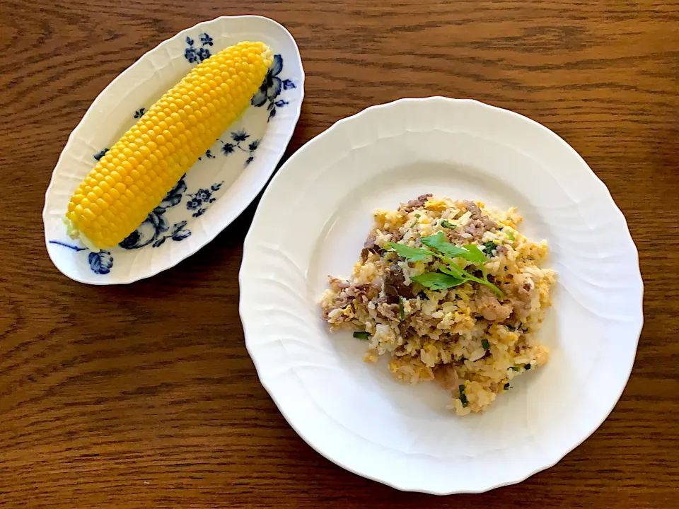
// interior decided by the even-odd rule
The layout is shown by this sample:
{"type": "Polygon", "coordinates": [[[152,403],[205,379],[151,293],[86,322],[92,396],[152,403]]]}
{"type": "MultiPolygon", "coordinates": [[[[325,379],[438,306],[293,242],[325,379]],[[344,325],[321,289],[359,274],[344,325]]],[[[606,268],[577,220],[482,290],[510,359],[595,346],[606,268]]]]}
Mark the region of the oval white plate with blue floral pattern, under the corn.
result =
{"type": "Polygon", "coordinates": [[[195,253],[266,185],[293,134],[303,95],[304,71],[295,40],[268,18],[216,18],[151,49],[98,95],[59,156],[42,211],[54,265],[82,283],[131,283],[195,253]],[[193,66],[242,40],[266,42],[275,54],[245,114],[120,245],[95,253],[71,240],[62,218],[71,194],[96,160],[193,66]]]}

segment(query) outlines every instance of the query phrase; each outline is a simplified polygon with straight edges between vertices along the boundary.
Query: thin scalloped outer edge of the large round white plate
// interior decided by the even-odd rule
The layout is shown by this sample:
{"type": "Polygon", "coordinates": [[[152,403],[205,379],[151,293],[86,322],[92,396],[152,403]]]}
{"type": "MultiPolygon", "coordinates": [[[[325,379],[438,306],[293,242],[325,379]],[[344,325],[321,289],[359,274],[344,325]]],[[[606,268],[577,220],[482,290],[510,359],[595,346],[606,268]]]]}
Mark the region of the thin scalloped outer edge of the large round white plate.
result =
{"type": "MultiPolygon", "coordinates": [[[[366,479],[378,481],[381,484],[385,484],[387,486],[398,489],[400,491],[429,493],[431,495],[443,496],[443,495],[452,495],[452,494],[457,494],[457,493],[484,493],[486,491],[491,491],[495,488],[500,488],[502,486],[511,486],[513,484],[521,483],[522,481],[525,481],[526,479],[528,479],[530,476],[533,476],[533,475],[537,474],[538,472],[542,472],[543,470],[546,470],[546,469],[549,469],[549,468],[555,466],[555,464],[557,464],[559,461],[561,461],[567,454],[569,454],[569,452],[573,451],[576,447],[578,447],[579,445],[584,443],[584,441],[587,438],[589,438],[601,426],[601,424],[603,424],[603,422],[608,418],[610,413],[615,408],[615,405],[617,404],[617,402],[620,400],[620,397],[622,396],[622,392],[624,392],[625,387],[627,386],[627,382],[629,381],[629,376],[632,374],[632,368],[634,367],[634,361],[636,359],[636,353],[637,353],[637,349],[638,349],[638,345],[639,345],[639,337],[641,335],[643,325],[644,325],[644,314],[643,314],[644,281],[643,281],[642,276],[641,276],[641,270],[640,270],[640,266],[639,266],[639,252],[637,250],[637,246],[634,244],[634,240],[632,238],[632,235],[629,232],[629,227],[627,226],[627,220],[625,218],[625,215],[622,213],[622,211],[617,206],[617,204],[615,204],[615,200],[613,199],[613,196],[610,194],[610,190],[608,189],[608,187],[605,185],[605,183],[602,180],[600,180],[600,178],[596,175],[596,173],[594,173],[593,170],[591,170],[591,168],[586,163],[586,161],[579,155],[579,153],[577,153],[577,151],[573,147],[571,147],[567,143],[567,141],[562,139],[561,136],[556,134],[551,129],[545,127],[544,125],[540,124],[539,122],[536,122],[533,119],[530,119],[529,117],[526,117],[525,115],[521,115],[520,113],[513,112],[511,110],[506,110],[506,109],[501,108],[501,107],[482,103],[482,102],[480,102],[478,100],[474,100],[474,99],[446,98],[446,97],[443,97],[443,96],[440,96],[440,95],[430,96],[430,97],[426,97],[426,98],[400,98],[398,100],[390,101],[389,103],[383,103],[383,104],[373,105],[373,106],[367,107],[364,110],[356,112],[354,115],[351,115],[349,117],[344,117],[344,118],[338,120],[337,122],[335,122],[334,124],[332,124],[325,131],[318,134],[318,136],[315,136],[315,138],[308,141],[307,144],[311,144],[314,141],[318,141],[320,139],[325,138],[326,136],[329,136],[333,131],[335,131],[338,128],[338,126],[341,126],[342,124],[352,122],[356,119],[359,119],[360,117],[362,117],[366,114],[369,114],[369,112],[372,112],[374,110],[380,110],[380,109],[388,108],[391,105],[395,105],[395,104],[398,104],[398,103],[423,103],[423,102],[426,102],[426,101],[437,101],[437,100],[443,100],[445,102],[451,102],[451,103],[475,103],[475,105],[478,105],[478,106],[484,107],[484,108],[488,108],[490,110],[496,110],[497,112],[500,112],[504,115],[509,114],[509,115],[513,115],[513,116],[516,116],[516,117],[520,117],[524,122],[528,122],[534,128],[537,127],[538,129],[542,129],[543,131],[546,131],[550,136],[552,136],[552,138],[555,141],[557,141],[559,144],[562,144],[562,146],[564,146],[564,149],[566,149],[567,151],[570,151],[575,156],[577,156],[577,158],[579,158],[579,160],[581,161],[581,165],[584,167],[583,169],[588,171],[588,176],[591,179],[593,179],[593,182],[596,182],[596,185],[598,187],[600,187],[600,190],[603,190],[605,192],[605,197],[608,200],[608,206],[612,207],[613,213],[615,213],[615,215],[617,216],[618,221],[621,220],[623,223],[625,223],[625,228],[627,229],[627,238],[626,238],[627,246],[626,246],[626,248],[627,249],[631,248],[631,250],[634,254],[635,261],[636,261],[636,264],[635,264],[636,271],[633,274],[633,276],[636,276],[635,277],[636,281],[634,281],[634,283],[636,283],[636,284],[634,284],[633,286],[634,286],[634,289],[639,292],[639,298],[638,298],[638,312],[639,312],[639,314],[638,314],[638,317],[635,317],[636,320],[634,320],[634,322],[632,322],[632,324],[630,325],[630,329],[634,333],[634,337],[635,337],[635,340],[634,340],[634,356],[632,357],[632,362],[629,363],[629,365],[625,368],[625,377],[624,377],[625,382],[622,383],[620,390],[617,392],[617,397],[615,397],[615,399],[611,402],[610,408],[608,408],[603,413],[602,419],[600,419],[600,421],[596,424],[596,426],[594,426],[593,428],[591,428],[591,430],[588,430],[586,433],[584,433],[579,440],[576,440],[576,443],[571,444],[570,447],[568,447],[566,450],[562,450],[559,453],[557,453],[557,455],[555,455],[555,457],[552,457],[549,461],[545,462],[545,464],[542,464],[542,466],[540,466],[536,469],[533,469],[526,474],[521,474],[519,476],[516,476],[512,479],[508,479],[507,481],[504,481],[504,482],[501,482],[501,483],[498,483],[498,484],[493,484],[493,485],[490,485],[490,486],[484,486],[484,488],[480,488],[480,489],[477,489],[477,490],[465,490],[465,489],[434,490],[434,489],[422,489],[422,488],[417,488],[417,487],[412,487],[412,486],[410,486],[410,487],[400,486],[400,485],[396,484],[395,482],[388,481],[387,479],[385,479],[385,476],[380,476],[380,475],[377,475],[377,474],[369,473],[369,472],[361,470],[360,468],[357,468],[357,467],[349,467],[347,464],[344,464],[340,460],[335,460],[335,458],[333,458],[330,455],[327,455],[323,451],[323,448],[321,447],[320,444],[313,442],[313,440],[309,439],[308,437],[306,437],[301,432],[301,430],[298,428],[298,426],[296,426],[296,423],[291,419],[291,416],[282,407],[280,400],[277,397],[276,390],[274,389],[274,387],[272,387],[272,385],[269,385],[269,383],[267,383],[267,380],[265,380],[265,375],[262,373],[260,362],[257,360],[257,352],[255,351],[254,345],[250,344],[250,342],[248,342],[248,336],[250,335],[250,333],[248,332],[248,324],[247,324],[248,319],[245,316],[245,312],[243,311],[245,305],[247,305],[247,303],[243,302],[243,292],[240,293],[240,298],[239,298],[239,314],[240,314],[240,320],[243,324],[243,334],[245,336],[245,348],[248,350],[248,354],[250,355],[250,358],[252,358],[253,363],[255,364],[255,369],[257,370],[257,377],[260,379],[262,386],[265,387],[265,390],[267,390],[269,396],[274,401],[274,404],[276,404],[277,408],[279,409],[281,414],[284,416],[284,419],[286,419],[286,421],[289,423],[291,428],[293,428],[294,431],[300,436],[300,438],[302,438],[302,440],[304,440],[313,450],[318,452],[320,455],[325,457],[327,460],[330,460],[330,462],[337,464],[339,467],[342,467],[343,469],[346,469],[349,472],[352,472],[354,474],[363,476],[366,479]],[[635,324],[636,324],[636,326],[635,326],[635,324]]],[[[288,160],[286,160],[284,165],[282,165],[282,167],[279,169],[279,171],[276,173],[276,175],[274,175],[272,180],[269,182],[269,185],[267,186],[267,189],[265,189],[264,194],[262,194],[262,198],[260,199],[260,203],[257,205],[257,211],[255,211],[255,216],[253,217],[253,221],[250,225],[250,230],[248,230],[248,234],[246,235],[245,241],[243,243],[243,258],[242,258],[242,261],[241,261],[241,267],[240,267],[240,272],[239,272],[239,277],[238,277],[240,288],[243,287],[243,283],[244,283],[245,279],[248,278],[248,274],[246,272],[247,269],[248,269],[248,267],[246,266],[247,257],[248,257],[248,254],[250,254],[250,252],[254,249],[254,247],[250,247],[250,249],[248,249],[248,246],[253,246],[253,244],[255,243],[254,238],[255,238],[255,235],[257,235],[257,233],[255,231],[256,230],[255,226],[257,226],[257,223],[259,223],[260,221],[263,221],[262,212],[261,212],[262,211],[262,204],[265,204],[269,192],[271,192],[271,189],[275,187],[274,183],[277,182],[277,180],[284,178],[284,177],[282,177],[282,175],[285,175],[285,168],[288,165],[293,165],[295,163],[296,157],[298,157],[298,154],[302,153],[305,148],[306,148],[306,144],[304,146],[302,146],[298,151],[296,151],[296,153],[294,153],[288,160]]],[[[631,255],[632,252],[630,252],[629,254],[631,255]]],[[[272,381],[273,381],[273,379],[272,379],[272,381]]]]}

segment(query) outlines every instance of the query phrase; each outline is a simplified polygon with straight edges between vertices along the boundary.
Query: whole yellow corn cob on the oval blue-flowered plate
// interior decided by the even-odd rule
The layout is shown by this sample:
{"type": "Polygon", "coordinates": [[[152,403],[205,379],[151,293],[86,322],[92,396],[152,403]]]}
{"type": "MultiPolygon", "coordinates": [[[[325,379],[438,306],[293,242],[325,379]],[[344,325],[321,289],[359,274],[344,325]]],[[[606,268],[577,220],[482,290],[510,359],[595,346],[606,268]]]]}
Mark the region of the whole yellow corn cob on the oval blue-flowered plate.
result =
{"type": "Polygon", "coordinates": [[[239,42],[197,65],[100,158],[71,197],[66,226],[93,250],[124,240],[250,104],[272,64],[239,42]]]}

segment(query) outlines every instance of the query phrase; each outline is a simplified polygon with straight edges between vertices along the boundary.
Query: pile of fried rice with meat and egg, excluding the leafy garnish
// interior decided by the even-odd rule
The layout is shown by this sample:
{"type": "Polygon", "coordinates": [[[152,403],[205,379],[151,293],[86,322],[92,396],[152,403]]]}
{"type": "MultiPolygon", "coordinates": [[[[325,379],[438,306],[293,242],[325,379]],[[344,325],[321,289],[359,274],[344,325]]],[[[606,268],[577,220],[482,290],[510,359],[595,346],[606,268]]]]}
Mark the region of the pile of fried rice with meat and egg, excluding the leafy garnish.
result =
{"type": "MultiPolygon", "coordinates": [[[[400,382],[436,380],[451,392],[458,415],[481,411],[511,380],[547,362],[549,350],[535,338],[552,304],[556,273],[540,266],[547,242],[531,242],[516,230],[521,216],[486,209],[480,201],[452,201],[424,194],[397,210],[378,210],[375,226],[350,279],[330,276],[323,320],[331,330],[354,330],[366,341],[364,361],[387,354],[400,382]],[[408,262],[389,242],[423,247],[442,231],[451,244],[477,245],[487,256],[488,281],[502,293],[467,281],[432,290],[410,278],[439,269],[436,257],[408,262]]],[[[465,259],[455,259],[481,275],[465,259]]]]}

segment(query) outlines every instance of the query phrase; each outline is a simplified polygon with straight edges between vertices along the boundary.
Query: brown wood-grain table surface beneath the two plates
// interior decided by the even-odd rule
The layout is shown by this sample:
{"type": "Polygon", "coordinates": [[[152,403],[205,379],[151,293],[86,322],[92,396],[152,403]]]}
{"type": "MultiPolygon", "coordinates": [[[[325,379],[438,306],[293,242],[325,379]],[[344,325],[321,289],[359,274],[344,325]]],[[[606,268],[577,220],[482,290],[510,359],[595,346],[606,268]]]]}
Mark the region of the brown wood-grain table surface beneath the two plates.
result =
{"type": "Polygon", "coordinates": [[[0,507],[679,508],[679,3],[651,0],[0,0],[0,507]],[[345,472],[284,421],[243,344],[255,204],[146,281],[86,286],[45,251],[43,195],[91,101],[219,15],[296,37],[306,100],[286,156],[402,97],[476,98],[566,139],[639,247],[646,324],[613,414],[559,464],[477,496],[345,472]]]}

